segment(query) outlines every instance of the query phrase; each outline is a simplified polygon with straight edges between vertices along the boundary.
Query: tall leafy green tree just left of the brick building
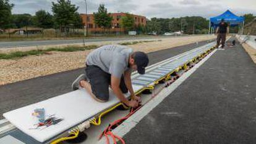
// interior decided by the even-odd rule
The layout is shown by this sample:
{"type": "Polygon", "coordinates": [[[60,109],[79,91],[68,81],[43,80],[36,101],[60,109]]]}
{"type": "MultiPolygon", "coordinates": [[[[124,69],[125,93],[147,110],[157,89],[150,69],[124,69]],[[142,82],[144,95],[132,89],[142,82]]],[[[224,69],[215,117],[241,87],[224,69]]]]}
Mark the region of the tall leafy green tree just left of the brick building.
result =
{"type": "Polygon", "coordinates": [[[53,2],[53,6],[51,8],[53,11],[54,21],[60,29],[64,28],[64,32],[67,35],[67,27],[75,25],[77,20],[80,19],[80,15],[77,12],[79,7],[71,4],[70,0],[58,0],[57,3],[53,2]]]}

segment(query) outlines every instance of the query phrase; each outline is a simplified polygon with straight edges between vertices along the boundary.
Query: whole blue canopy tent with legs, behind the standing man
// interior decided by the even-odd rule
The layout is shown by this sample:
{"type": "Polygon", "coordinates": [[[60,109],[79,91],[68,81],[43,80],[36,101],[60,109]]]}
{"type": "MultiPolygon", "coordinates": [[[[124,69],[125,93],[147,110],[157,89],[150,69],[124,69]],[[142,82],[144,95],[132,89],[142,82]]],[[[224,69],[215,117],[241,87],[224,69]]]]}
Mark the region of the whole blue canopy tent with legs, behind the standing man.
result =
{"type": "Polygon", "coordinates": [[[242,33],[244,30],[244,17],[239,17],[233,14],[231,11],[226,11],[221,15],[216,17],[211,17],[209,22],[209,33],[218,27],[218,24],[221,22],[221,19],[224,19],[225,22],[229,23],[230,27],[239,25],[239,33],[242,33]],[[242,27],[242,28],[241,28],[242,27]]]}

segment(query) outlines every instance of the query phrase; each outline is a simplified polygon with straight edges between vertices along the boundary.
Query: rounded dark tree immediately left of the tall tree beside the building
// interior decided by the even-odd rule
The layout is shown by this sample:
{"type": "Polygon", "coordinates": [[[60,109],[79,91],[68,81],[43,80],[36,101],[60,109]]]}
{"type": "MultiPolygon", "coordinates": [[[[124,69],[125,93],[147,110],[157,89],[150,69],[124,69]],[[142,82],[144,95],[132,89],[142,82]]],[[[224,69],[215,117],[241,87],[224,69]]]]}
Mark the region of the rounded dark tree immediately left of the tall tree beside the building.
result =
{"type": "Polygon", "coordinates": [[[53,15],[49,14],[44,10],[37,11],[35,13],[35,24],[41,28],[52,28],[53,27],[53,15]]]}

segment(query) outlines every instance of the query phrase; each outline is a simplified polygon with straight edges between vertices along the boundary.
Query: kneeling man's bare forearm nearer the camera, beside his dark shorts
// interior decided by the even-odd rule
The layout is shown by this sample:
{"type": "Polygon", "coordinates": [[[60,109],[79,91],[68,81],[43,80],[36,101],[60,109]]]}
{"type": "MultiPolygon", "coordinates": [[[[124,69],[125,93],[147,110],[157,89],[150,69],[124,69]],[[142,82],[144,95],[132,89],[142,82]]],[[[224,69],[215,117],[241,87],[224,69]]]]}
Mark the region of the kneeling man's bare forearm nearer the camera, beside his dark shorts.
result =
{"type": "Polygon", "coordinates": [[[120,85],[120,79],[111,75],[111,88],[114,94],[116,94],[117,98],[127,106],[132,106],[132,107],[138,106],[137,101],[129,101],[127,100],[126,97],[124,97],[124,95],[122,94],[122,91],[119,88],[119,85],[120,85]]]}

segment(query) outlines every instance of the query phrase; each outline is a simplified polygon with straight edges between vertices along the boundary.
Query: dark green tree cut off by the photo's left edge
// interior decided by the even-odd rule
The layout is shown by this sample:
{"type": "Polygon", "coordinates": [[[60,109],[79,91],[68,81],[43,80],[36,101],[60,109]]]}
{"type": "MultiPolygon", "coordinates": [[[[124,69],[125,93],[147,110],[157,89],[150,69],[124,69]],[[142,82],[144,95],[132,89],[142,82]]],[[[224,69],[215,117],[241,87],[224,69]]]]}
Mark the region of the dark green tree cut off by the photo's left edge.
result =
{"type": "Polygon", "coordinates": [[[0,28],[8,27],[11,22],[12,7],[14,4],[9,4],[9,0],[0,0],[0,28]]]}

